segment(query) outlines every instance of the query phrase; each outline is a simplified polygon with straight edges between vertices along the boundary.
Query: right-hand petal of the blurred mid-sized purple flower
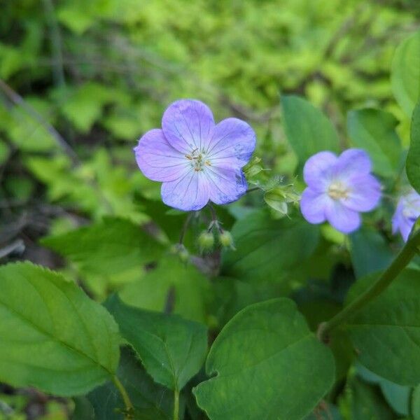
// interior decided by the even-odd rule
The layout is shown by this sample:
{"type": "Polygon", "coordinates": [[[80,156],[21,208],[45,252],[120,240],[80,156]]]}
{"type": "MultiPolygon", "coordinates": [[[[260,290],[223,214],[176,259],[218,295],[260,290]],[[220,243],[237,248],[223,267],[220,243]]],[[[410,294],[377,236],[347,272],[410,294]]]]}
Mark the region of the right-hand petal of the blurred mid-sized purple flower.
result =
{"type": "Polygon", "coordinates": [[[372,211],[381,200],[381,184],[372,175],[359,176],[352,179],[348,197],[342,204],[355,211],[372,211]]]}

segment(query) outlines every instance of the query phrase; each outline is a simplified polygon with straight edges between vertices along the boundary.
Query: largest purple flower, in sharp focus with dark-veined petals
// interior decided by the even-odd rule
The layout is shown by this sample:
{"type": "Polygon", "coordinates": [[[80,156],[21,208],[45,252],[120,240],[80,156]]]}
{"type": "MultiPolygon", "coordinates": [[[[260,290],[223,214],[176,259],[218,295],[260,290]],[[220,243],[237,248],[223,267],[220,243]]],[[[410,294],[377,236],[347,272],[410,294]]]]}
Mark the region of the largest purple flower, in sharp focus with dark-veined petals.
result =
{"type": "Polygon", "coordinates": [[[137,165],[161,181],[162,200],[179,210],[200,210],[209,200],[227,204],[246,192],[241,168],[255,148],[255,133],[244,121],[214,123],[209,107],[193,99],[169,105],[162,130],[146,132],[134,148],[137,165]]]}

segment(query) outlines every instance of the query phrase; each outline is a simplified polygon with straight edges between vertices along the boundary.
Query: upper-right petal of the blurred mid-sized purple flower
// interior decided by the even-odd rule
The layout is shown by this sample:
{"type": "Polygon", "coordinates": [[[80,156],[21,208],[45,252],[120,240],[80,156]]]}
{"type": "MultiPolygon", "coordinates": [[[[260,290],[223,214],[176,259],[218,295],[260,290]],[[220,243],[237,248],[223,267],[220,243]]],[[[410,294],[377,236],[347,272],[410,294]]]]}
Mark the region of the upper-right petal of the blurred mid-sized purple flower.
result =
{"type": "Polygon", "coordinates": [[[353,176],[369,174],[372,162],[369,155],[362,149],[351,148],[344,151],[335,165],[335,174],[339,179],[351,179],[353,176]]]}

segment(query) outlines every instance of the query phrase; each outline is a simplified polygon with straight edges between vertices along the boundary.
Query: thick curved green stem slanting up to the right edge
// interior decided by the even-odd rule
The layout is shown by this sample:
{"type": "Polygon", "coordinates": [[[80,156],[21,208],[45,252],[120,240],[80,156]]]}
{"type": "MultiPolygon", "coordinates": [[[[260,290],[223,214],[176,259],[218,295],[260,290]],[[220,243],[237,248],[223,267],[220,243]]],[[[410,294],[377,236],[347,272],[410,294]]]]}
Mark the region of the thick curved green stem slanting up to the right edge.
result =
{"type": "Polygon", "coordinates": [[[375,281],[370,288],[365,290],[360,296],[358,296],[353,302],[348,304],[342,311],[333,316],[330,321],[321,323],[318,326],[317,336],[321,342],[327,344],[330,340],[330,332],[338,325],[344,323],[349,318],[354,316],[356,312],[369,303],[372,299],[380,295],[395,279],[398,274],[404,269],[407,264],[412,260],[414,255],[419,251],[420,246],[420,230],[417,230],[408,239],[405,246],[402,248],[400,253],[395,257],[395,260],[391,262],[391,265],[385,270],[379,279],[375,281]]]}

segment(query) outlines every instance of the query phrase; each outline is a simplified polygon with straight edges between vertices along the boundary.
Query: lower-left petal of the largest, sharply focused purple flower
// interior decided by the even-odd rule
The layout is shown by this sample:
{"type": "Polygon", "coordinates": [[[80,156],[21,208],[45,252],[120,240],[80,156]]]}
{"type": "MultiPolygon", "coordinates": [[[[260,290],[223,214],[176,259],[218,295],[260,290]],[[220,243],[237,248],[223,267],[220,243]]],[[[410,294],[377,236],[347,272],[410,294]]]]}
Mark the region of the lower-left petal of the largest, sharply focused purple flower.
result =
{"type": "Polygon", "coordinates": [[[209,183],[204,172],[188,170],[180,179],[162,183],[162,201],[183,211],[197,211],[209,202],[209,183]]]}

